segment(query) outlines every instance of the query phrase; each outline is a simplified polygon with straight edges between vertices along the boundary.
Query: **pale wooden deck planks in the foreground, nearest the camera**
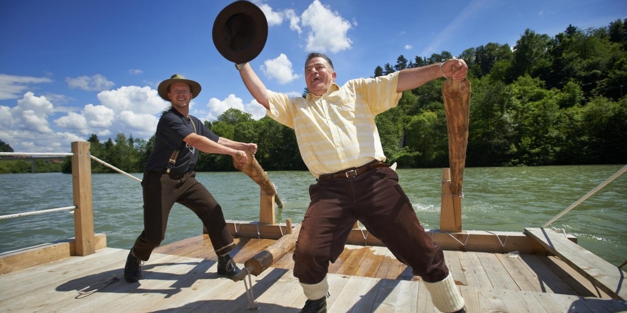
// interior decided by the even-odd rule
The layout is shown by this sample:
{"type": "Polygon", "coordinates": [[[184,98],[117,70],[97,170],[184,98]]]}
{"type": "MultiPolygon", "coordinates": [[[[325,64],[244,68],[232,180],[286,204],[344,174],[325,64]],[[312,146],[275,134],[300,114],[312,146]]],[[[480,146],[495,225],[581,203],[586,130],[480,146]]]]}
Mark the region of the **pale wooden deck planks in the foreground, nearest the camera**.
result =
{"type": "MultiPolygon", "coordinates": [[[[218,277],[211,259],[154,253],[142,268],[140,282],[97,285],[122,275],[128,252],[106,248],[90,257],[69,257],[0,275],[0,307],[3,312],[246,311],[244,284],[218,277]],[[100,288],[79,295],[78,290],[88,285],[100,288]]],[[[329,312],[438,312],[419,280],[329,274],[329,287],[329,312]]],[[[467,312],[627,311],[623,300],[470,285],[460,289],[467,312]]],[[[288,269],[270,268],[253,277],[253,292],[261,312],[298,312],[305,302],[288,269]]]]}

